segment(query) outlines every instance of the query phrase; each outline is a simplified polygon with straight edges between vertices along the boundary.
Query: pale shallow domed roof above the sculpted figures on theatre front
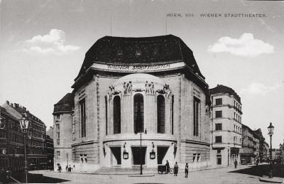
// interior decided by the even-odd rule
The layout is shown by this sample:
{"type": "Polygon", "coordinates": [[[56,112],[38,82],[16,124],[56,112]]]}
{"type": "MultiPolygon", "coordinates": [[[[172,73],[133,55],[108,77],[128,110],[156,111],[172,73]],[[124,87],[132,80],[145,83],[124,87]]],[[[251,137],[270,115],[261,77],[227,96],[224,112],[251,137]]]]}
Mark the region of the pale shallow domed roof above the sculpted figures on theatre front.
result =
{"type": "Polygon", "coordinates": [[[124,77],[119,78],[119,80],[117,80],[114,85],[116,84],[121,84],[123,82],[154,82],[154,83],[159,83],[162,84],[164,83],[162,80],[160,80],[159,77],[156,77],[154,75],[150,75],[150,74],[146,74],[146,73],[133,73],[130,75],[126,75],[124,77]]]}

